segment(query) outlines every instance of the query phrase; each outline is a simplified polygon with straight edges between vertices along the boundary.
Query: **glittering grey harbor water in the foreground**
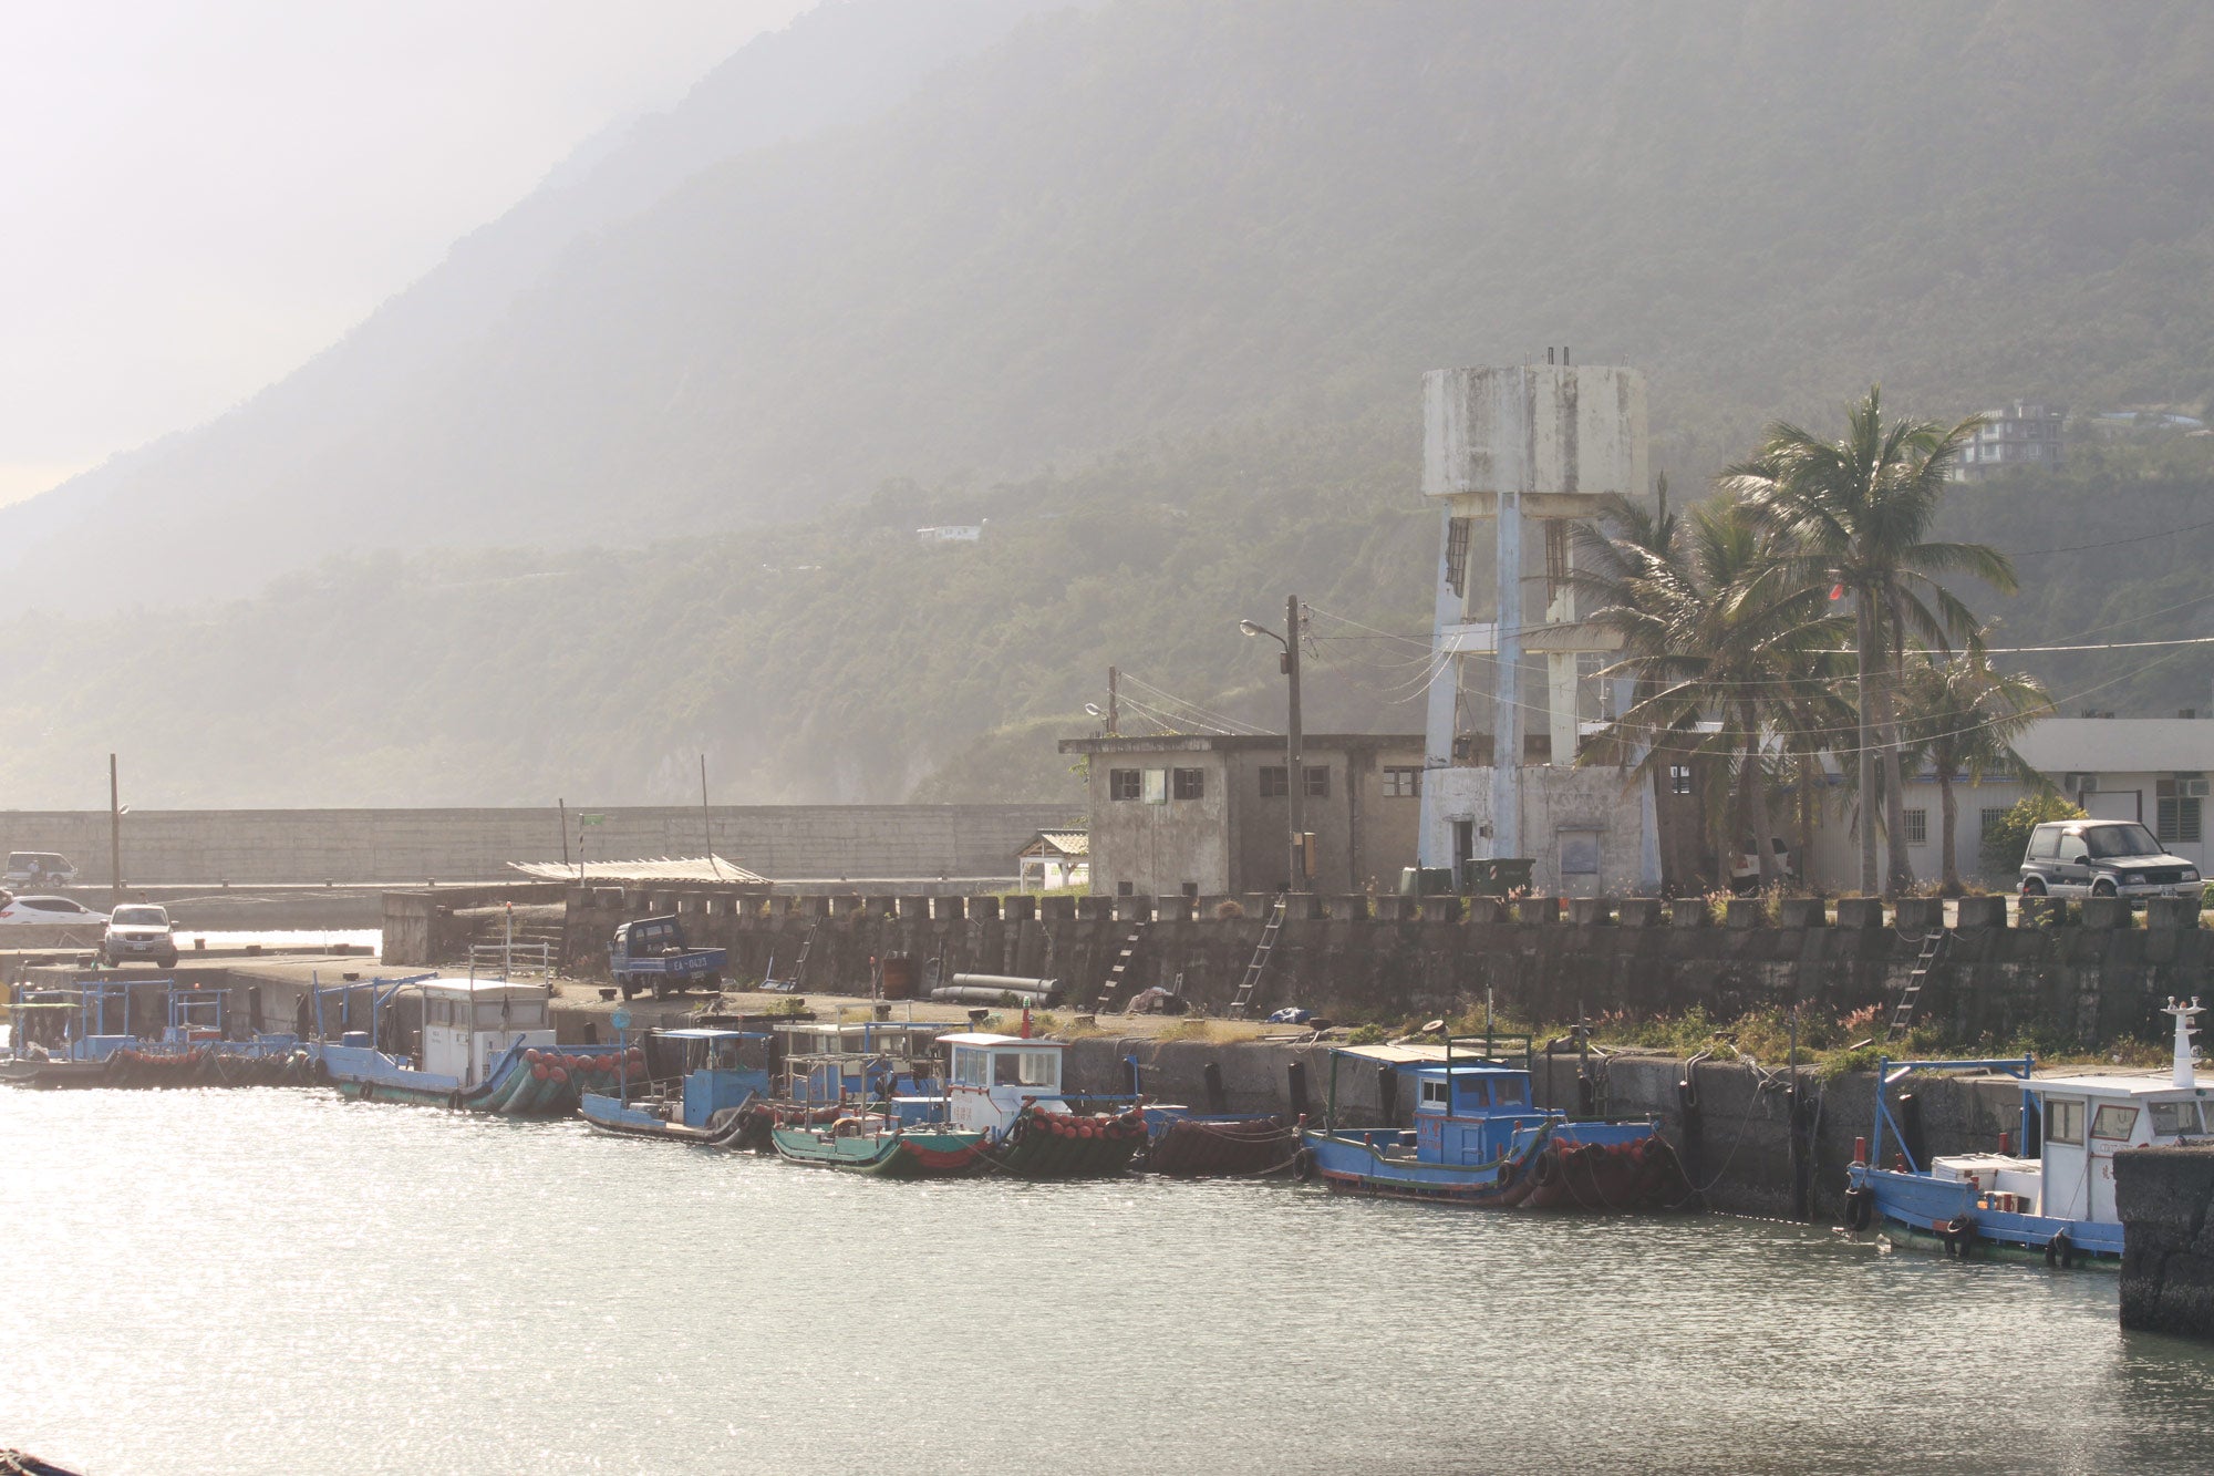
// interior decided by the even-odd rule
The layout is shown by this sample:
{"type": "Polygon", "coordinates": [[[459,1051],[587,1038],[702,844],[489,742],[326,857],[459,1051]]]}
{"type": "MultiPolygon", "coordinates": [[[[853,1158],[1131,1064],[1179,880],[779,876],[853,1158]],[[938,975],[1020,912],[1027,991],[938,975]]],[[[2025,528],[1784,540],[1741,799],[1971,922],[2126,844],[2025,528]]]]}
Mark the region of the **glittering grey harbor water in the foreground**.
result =
{"type": "Polygon", "coordinates": [[[2112,1274],[1286,1183],[879,1183],[0,1093],[0,1447],[155,1472],[2185,1472],[2112,1274]]]}

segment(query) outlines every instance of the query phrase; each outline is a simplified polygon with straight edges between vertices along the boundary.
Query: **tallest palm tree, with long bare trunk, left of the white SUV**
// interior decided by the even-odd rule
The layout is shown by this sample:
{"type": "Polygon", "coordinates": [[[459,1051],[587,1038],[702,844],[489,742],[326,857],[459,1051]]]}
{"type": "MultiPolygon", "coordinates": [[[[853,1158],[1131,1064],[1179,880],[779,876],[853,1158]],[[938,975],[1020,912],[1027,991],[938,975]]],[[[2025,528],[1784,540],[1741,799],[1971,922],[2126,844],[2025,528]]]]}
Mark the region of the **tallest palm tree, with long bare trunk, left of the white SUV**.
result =
{"type": "Polygon", "coordinates": [[[1875,756],[1884,769],[1886,884],[1913,886],[1906,860],[1900,725],[1893,691],[1906,645],[1922,640],[1951,652],[1953,640],[1979,643],[1975,614],[1937,583],[1939,574],[1973,574],[2001,594],[2015,592],[2006,554],[1982,543],[1937,543],[1931,527],[1944,496],[1946,468],[1975,434],[1977,419],[1951,430],[1935,421],[1884,423],[1882,386],[1846,408],[1842,441],[1818,441],[1798,426],[1776,423],[1751,461],[1729,468],[1720,488],[1742,499],[1789,547],[1793,570],[1853,596],[1858,649],[1860,886],[1875,891],[1875,756]]]}

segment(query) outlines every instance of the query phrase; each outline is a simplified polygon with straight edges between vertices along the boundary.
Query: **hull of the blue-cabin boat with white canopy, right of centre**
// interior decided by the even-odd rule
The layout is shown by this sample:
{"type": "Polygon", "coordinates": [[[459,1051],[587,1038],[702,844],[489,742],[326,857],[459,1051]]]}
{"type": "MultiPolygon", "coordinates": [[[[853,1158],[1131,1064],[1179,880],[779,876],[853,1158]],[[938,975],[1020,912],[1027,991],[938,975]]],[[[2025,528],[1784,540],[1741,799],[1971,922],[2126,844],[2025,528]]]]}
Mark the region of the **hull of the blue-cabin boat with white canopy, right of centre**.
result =
{"type": "Polygon", "coordinates": [[[1494,1164],[1426,1164],[1388,1152],[1379,1137],[1304,1132],[1302,1177],[1339,1195],[1477,1210],[1636,1214],[1683,1208],[1694,1197],[1676,1152],[1658,1135],[1630,1141],[1545,1137],[1523,1157],[1494,1164]]]}

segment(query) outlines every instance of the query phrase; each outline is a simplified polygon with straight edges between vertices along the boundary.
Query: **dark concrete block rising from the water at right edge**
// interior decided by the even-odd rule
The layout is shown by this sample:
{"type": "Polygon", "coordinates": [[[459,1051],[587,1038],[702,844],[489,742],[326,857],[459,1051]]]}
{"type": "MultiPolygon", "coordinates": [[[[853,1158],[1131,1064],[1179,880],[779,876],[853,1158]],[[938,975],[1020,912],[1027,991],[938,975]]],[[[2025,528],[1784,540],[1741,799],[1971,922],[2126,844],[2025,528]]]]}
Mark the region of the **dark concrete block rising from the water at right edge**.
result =
{"type": "Polygon", "coordinates": [[[2214,1339],[2214,1148],[2114,1155],[2121,1325],[2214,1339]]]}

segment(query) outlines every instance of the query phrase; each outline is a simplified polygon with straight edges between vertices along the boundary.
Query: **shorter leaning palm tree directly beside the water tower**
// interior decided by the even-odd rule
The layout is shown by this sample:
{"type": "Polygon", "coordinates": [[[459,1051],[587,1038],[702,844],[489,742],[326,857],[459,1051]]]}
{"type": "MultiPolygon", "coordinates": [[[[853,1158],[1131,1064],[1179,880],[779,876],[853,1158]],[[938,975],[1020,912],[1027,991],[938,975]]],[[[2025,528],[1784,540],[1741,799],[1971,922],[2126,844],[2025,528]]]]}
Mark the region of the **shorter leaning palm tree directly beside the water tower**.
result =
{"type": "MultiPolygon", "coordinates": [[[[1579,532],[1572,574],[1590,596],[1585,623],[1621,636],[1623,660],[1605,674],[1638,678],[1636,703],[1610,731],[1645,749],[1641,776],[1698,754],[1731,765],[1736,816],[1720,838],[1722,880],[1727,858],[1751,836],[1769,886],[1778,875],[1762,738],[1773,716],[1813,700],[1820,656],[1840,643],[1842,621],[1820,587],[1791,576],[1773,534],[1742,503],[1698,503],[1680,523],[1627,512],[1612,510],[1618,534],[1579,532]]],[[[1583,758],[1596,756],[1585,749],[1583,758]]]]}

